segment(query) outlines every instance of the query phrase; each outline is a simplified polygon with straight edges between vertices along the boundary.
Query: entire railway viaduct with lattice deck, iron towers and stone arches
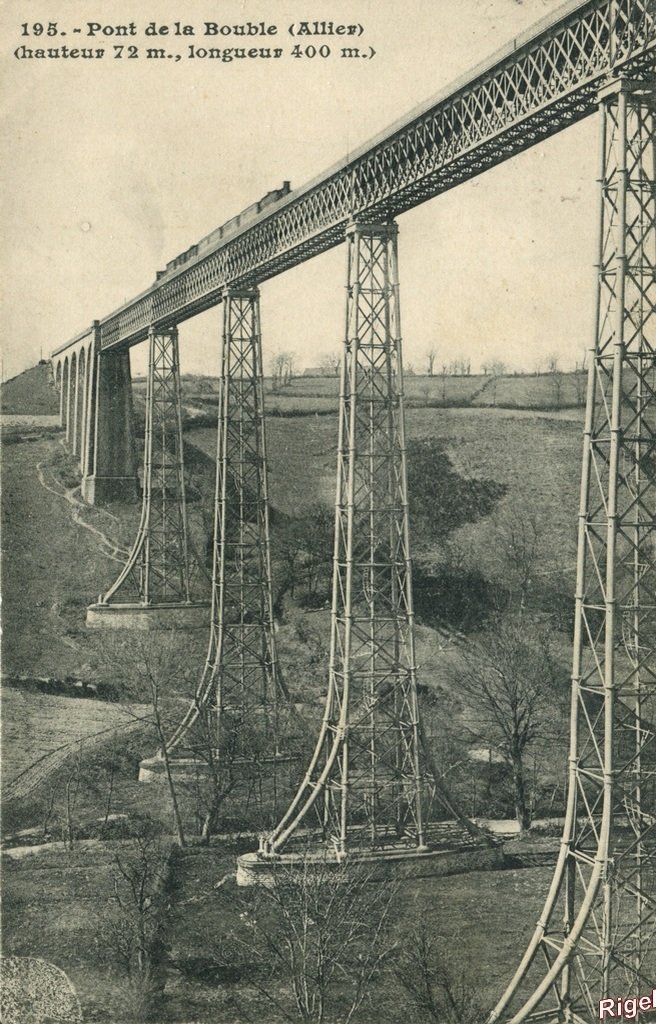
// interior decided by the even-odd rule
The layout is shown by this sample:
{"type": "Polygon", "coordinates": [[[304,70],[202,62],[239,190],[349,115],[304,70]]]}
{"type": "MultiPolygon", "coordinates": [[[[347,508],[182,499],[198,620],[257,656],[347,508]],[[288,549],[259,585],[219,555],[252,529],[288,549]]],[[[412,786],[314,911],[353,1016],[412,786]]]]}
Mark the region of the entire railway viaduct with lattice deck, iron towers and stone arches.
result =
{"type": "Polygon", "coordinates": [[[110,502],[137,495],[129,349],[148,340],[141,524],[96,614],[179,609],[189,591],[177,328],[222,305],[210,643],[170,742],[193,762],[209,713],[220,764],[230,722],[260,715],[274,728],[289,695],[271,607],[258,289],[345,244],[325,710],[296,796],[238,872],[266,881],[297,863],[295,844],[316,820],[315,852],[336,864],[448,859],[427,811],[445,797],[417,701],[395,218],[599,119],[566,818],[543,911],[490,1024],[592,1024],[601,1000],[648,993],[656,978],[655,95],[654,0],[566,3],[347,160],[202,240],[52,353],[83,494],[110,502]]]}

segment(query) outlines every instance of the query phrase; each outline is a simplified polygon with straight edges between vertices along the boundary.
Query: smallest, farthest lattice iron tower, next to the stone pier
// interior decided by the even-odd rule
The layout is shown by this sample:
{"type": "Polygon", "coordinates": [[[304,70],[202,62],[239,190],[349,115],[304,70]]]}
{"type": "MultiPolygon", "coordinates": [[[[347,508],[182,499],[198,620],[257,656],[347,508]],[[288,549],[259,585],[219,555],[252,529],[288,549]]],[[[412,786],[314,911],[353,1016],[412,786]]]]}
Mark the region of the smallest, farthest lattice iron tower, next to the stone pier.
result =
{"type": "Polygon", "coordinates": [[[125,567],[100,603],[188,603],[189,564],[178,334],[151,329],[141,520],[125,567]]]}

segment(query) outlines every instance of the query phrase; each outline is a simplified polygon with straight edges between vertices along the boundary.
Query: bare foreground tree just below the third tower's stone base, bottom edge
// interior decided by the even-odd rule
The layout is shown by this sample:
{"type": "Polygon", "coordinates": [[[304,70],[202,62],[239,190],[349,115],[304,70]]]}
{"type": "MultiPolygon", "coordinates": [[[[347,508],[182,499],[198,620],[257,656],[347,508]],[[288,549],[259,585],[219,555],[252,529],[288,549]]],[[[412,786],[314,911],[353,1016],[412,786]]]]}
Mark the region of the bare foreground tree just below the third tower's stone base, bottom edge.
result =
{"type": "Polygon", "coordinates": [[[348,861],[280,867],[240,915],[250,933],[240,942],[257,957],[267,1004],[287,1020],[349,1024],[395,947],[395,895],[348,861]]]}

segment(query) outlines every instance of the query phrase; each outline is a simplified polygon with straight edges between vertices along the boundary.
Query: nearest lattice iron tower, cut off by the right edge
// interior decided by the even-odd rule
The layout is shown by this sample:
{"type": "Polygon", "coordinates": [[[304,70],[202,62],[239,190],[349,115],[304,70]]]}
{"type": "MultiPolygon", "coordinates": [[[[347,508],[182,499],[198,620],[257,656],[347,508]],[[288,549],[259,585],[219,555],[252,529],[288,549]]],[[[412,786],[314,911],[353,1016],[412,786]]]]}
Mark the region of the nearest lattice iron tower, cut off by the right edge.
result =
{"type": "Polygon", "coordinates": [[[491,1021],[592,1022],[656,979],[656,102],[601,94],[567,817],[545,908],[491,1021]]]}

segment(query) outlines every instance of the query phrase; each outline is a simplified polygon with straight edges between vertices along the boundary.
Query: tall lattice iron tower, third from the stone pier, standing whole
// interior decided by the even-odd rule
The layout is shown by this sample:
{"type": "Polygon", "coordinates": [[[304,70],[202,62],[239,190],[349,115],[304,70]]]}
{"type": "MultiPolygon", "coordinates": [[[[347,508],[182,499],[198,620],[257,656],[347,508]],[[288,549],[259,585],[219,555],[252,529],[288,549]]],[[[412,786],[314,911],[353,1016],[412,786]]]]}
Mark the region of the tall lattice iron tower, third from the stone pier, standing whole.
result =
{"type": "Polygon", "coordinates": [[[305,779],[262,852],[318,823],[327,849],[421,849],[396,226],[347,231],[329,692],[305,779]]]}

